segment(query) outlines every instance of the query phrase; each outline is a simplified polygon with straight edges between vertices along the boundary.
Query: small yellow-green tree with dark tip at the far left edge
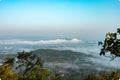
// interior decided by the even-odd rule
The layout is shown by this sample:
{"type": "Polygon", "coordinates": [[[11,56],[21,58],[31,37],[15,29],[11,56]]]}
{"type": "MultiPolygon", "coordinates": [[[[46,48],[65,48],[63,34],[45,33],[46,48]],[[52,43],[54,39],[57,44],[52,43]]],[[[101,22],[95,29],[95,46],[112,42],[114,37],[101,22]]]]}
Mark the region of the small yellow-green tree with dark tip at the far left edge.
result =
{"type": "Polygon", "coordinates": [[[3,65],[0,66],[0,79],[1,80],[18,80],[19,75],[12,72],[14,59],[6,57],[3,65]]]}

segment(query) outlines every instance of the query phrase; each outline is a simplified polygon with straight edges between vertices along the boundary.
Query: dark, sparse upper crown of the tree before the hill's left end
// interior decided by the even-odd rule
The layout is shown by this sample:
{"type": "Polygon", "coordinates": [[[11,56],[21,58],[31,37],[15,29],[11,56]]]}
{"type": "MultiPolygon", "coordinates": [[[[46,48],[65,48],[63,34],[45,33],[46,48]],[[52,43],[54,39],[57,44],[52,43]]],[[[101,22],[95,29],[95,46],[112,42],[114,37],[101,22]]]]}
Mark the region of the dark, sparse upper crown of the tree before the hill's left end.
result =
{"type": "Polygon", "coordinates": [[[35,54],[28,53],[28,52],[19,52],[17,56],[17,63],[19,69],[20,67],[25,67],[24,73],[22,76],[29,75],[33,70],[40,71],[43,67],[43,61],[40,57],[35,54]]]}

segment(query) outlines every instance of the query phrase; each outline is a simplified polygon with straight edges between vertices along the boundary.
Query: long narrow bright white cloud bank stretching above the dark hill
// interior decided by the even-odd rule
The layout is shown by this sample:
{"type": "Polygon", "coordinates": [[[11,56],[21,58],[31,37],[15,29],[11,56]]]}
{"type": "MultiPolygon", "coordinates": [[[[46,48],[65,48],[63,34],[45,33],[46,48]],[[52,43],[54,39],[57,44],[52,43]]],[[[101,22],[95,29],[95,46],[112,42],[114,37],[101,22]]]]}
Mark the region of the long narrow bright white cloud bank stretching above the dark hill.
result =
{"type": "Polygon", "coordinates": [[[79,39],[55,39],[55,40],[38,40],[38,41],[27,41],[27,40],[0,40],[0,44],[27,44],[27,45],[39,45],[39,44],[66,44],[66,43],[79,43],[82,42],[79,39]]]}

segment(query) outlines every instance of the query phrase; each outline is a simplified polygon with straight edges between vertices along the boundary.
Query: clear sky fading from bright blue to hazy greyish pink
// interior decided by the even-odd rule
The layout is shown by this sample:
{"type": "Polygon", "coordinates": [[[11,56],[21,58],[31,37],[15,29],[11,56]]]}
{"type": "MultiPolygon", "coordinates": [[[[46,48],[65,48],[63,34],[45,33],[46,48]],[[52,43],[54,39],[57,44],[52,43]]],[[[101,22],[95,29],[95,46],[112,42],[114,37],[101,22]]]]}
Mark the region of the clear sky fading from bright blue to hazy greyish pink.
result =
{"type": "Polygon", "coordinates": [[[102,38],[120,27],[120,0],[0,0],[0,35],[102,38]]]}

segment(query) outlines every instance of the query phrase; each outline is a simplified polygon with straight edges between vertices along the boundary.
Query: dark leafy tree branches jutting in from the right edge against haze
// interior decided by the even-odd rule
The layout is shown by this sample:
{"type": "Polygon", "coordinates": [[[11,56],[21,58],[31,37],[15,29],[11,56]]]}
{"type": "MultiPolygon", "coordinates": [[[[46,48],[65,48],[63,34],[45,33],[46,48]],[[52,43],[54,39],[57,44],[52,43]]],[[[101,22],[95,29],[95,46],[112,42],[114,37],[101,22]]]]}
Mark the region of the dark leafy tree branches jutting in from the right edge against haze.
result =
{"type": "Polygon", "coordinates": [[[115,33],[106,33],[106,37],[104,42],[98,42],[98,45],[102,45],[102,49],[100,55],[104,55],[106,53],[110,53],[113,60],[116,57],[120,57],[120,39],[118,39],[118,35],[120,34],[120,28],[117,29],[115,33]]]}

